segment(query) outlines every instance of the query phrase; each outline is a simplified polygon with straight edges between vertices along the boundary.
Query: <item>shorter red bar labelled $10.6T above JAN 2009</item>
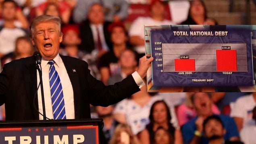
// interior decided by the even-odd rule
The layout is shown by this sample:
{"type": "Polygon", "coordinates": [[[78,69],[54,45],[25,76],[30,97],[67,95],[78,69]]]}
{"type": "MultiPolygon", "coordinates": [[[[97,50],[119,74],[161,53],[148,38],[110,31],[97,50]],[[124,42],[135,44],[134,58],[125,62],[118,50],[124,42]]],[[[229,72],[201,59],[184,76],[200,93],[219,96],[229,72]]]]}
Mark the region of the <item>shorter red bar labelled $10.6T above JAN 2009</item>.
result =
{"type": "Polygon", "coordinates": [[[175,71],[195,71],[195,59],[174,59],[175,71]]]}

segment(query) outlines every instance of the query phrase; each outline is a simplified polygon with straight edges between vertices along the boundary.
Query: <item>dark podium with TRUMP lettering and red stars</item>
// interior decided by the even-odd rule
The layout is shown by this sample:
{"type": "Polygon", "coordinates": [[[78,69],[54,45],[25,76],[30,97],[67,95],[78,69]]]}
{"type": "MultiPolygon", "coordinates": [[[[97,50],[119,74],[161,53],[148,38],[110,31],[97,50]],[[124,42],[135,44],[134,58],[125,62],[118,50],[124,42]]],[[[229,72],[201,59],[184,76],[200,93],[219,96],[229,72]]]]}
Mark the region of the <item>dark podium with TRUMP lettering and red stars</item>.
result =
{"type": "Polygon", "coordinates": [[[99,144],[102,119],[0,121],[0,144],[99,144]]]}

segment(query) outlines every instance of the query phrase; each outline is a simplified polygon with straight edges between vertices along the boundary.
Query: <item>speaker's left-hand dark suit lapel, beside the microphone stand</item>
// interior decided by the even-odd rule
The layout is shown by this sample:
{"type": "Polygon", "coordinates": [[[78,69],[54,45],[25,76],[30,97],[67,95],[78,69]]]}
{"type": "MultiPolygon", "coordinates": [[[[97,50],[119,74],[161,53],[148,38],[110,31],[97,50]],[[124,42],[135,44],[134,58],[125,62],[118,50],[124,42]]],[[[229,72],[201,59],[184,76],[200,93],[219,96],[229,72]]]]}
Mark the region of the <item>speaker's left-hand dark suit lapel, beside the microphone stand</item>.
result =
{"type": "Polygon", "coordinates": [[[35,61],[33,60],[33,57],[29,57],[28,61],[25,62],[25,68],[23,69],[23,76],[25,80],[25,87],[26,87],[26,92],[27,92],[29,103],[30,103],[30,107],[33,111],[33,115],[35,119],[39,119],[38,99],[37,99],[37,95],[35,95],[37,90],[37,72],[36,72],[35,61]],[[35,99],[34,99],[34,95],[35,95],[35,99]],[[34,104],[37,109],[35,109],[34,104]]]}

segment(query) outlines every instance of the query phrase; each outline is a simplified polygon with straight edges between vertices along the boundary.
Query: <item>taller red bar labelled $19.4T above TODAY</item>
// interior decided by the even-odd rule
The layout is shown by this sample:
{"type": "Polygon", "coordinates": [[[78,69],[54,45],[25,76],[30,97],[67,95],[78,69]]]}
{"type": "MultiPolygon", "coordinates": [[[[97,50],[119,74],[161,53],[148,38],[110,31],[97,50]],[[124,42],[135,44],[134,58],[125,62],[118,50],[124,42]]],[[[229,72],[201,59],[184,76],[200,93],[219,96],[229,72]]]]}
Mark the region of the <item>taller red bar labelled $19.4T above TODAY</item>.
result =
{"type": "Polygon", "coordinates": [[[237,71],[236,50],[216,49],[217,71],[237,71]]]}

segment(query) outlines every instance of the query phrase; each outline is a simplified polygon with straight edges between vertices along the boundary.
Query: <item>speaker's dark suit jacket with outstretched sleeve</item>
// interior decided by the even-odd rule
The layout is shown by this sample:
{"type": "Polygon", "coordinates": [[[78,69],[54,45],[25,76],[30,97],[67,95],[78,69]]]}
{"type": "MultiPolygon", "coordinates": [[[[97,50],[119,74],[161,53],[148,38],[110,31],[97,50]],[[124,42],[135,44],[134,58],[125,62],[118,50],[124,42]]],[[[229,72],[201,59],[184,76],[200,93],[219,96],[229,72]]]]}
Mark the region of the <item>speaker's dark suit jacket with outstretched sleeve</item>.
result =
{"type": "MultiPolygon", "coordinates": [[[[85,61],[68,56],[61,58],[74,91],[75,119],[90,118],[89,104],[112,105],[139,91],[132,76],[105,86],[90,74],[85,61]]],[[[5,103],[6,120],[39,119],[37,95],[34,98],[36,89],[37,72],[33,57],[4,65],[0,74],[0,105],[5,103]]]]}

